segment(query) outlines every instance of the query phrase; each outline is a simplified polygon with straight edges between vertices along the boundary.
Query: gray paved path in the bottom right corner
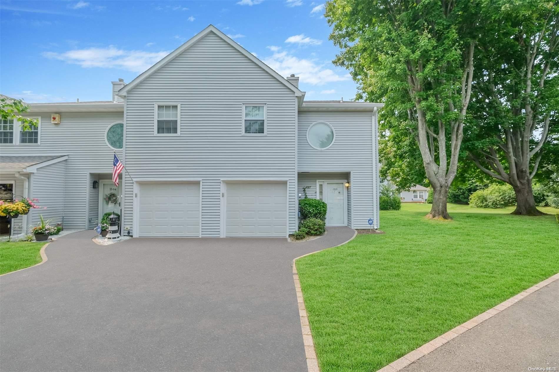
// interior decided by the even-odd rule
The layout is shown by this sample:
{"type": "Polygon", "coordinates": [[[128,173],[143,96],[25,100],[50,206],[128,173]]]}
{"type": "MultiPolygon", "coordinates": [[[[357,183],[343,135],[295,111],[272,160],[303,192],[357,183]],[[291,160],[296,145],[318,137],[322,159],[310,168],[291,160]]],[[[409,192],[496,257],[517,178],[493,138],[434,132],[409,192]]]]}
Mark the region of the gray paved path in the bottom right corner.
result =
{"type": "Polygon", "coordinates": [[[545,371],[547,367],[559,371],[559,280],[401,371],[545,371]]]}

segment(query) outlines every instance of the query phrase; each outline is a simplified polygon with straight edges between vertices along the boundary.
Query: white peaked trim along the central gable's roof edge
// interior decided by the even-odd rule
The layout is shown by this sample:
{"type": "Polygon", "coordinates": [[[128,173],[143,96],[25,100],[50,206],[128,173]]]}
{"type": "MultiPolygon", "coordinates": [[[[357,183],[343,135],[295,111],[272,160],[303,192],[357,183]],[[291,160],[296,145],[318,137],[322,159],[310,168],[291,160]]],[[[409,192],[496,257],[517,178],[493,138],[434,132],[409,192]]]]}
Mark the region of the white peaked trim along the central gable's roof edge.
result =
{"type": "Polygon", "coordinates": [[[260,66],[260,68],[262,68],[264,71],[266,71],[267,73],[269,73],[270,75],[272,75],[274,78],[276,78],[278,80],[278,82],[282,83],[283,85],[285,85],[287,88],[293,90],[293,92],[295,92],[295,96],[297,97],[301,97],[304,96],[305,93],[301,92],[301,90],[299,90],[298,88],[295,87],[295,85],[291,84],[290,82],[287,81],[286,78],[282,77],[280,74],[278,74],[276,71],[274,71],[272,68],[270,68],[267,64],[263,63],[261,60],[259,60],[258,58],[256,58],[253,54],[249,53],[246,49],[244,49],[242,46],[240,46],[239,44],[237,44],[234,40],[232,40],[229,36],[225,35],[223,32],[217,30],[217,28],[214,25],[209,25],[206,28],[204,28],[202,31],[198,32],[198,34],[196,34],[194,37],[192,37],[192,39],[188,40],[187,42],[185,42],[183,45],[179,46],[177,49],[173,50],[170,54],[168,54],[167,56],[165,56],[165,58],[163,58],[162,60],[160,60],[158,63],[154,64],[153,66],[151,66],[149,69],[145,70],[143,73],[141,73],[137,78],[135,78],[134,80],[132,80],[130,83],[126,84],[124,87],[122,87],[119,92],[117,93],[119,96],[126,96],[126,92],[128,92],[130,89],[134,88],[136,85],[138,85],[142,80],[144,80],[145,78],[148,78],[151,74],[153,74],[155,71],[159,70],[160,68],[162,68],[164,65],[166,65],[170,60],[174,59],[176,56],[178,56],[179,54],[181,54],[183,51],[187,50],[188,48],[190,48],[192,45],[196,44],[196,42],[200,39],[202,39],[202,37],[206,36],[209,32],[214,32],[214,34],[216,34],[218,37],[220,37],[221,39],[223,39],[225,42],[227,42],[229,45],[233,46],[236,50],[240,51],[240,53],[242,53],[244,56],[246,56],[248,59],[250,59],[251,61],[253,61],[255,64],[257,64],[258,66],[260,66]]]}

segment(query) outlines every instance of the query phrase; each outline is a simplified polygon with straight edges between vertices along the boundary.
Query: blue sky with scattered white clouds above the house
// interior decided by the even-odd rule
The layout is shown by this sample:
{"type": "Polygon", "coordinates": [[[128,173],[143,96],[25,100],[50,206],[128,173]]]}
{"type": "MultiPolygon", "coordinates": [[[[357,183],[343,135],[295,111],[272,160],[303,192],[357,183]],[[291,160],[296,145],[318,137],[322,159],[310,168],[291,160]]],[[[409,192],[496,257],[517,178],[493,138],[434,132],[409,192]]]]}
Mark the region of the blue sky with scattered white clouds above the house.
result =
{"type": "Polygon", "coordinates": [[[33,102],[105,101],[210,23],[284,77],[305,99],[352,99],[331,64],[324,1],[6,1],[0,3],[0,92],[33,102]]]}

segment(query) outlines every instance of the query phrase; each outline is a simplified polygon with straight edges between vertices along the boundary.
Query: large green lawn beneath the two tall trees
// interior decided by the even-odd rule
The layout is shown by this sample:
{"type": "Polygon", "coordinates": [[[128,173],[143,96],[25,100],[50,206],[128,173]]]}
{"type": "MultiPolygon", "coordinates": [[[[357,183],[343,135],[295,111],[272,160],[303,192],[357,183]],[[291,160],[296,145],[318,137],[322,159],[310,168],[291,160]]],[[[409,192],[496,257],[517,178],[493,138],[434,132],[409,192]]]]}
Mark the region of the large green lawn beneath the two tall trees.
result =
{"type": "Polygon", "coordinates": [[[376,371],[559,272],[555,216],[429,209],[381,211],[385,234],[297,260],[321,371],[376,371]]]}

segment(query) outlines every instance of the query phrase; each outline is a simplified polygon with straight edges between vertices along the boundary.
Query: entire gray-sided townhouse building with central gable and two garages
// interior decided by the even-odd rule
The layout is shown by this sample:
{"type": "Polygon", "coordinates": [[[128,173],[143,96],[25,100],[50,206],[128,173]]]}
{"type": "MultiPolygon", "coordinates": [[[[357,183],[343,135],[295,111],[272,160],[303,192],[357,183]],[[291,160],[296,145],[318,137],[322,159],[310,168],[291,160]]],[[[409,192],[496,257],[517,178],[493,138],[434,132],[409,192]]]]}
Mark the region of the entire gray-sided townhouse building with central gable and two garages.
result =
{"type": "Polygon", "coordinates": [[[140,237],[286,237],[305,186],[328,204],[327,226],[377,228],[382,104],[304,101],[298,83],[210,25],[113,82],[111,101],[31,104],[34,133],[2,122],[0,187],[48,209],[18,217],[13,233],[39,214],[93,228],[115,211],[140,237]],[[119,187],[113,150],[127,169],[119,187]]]}

